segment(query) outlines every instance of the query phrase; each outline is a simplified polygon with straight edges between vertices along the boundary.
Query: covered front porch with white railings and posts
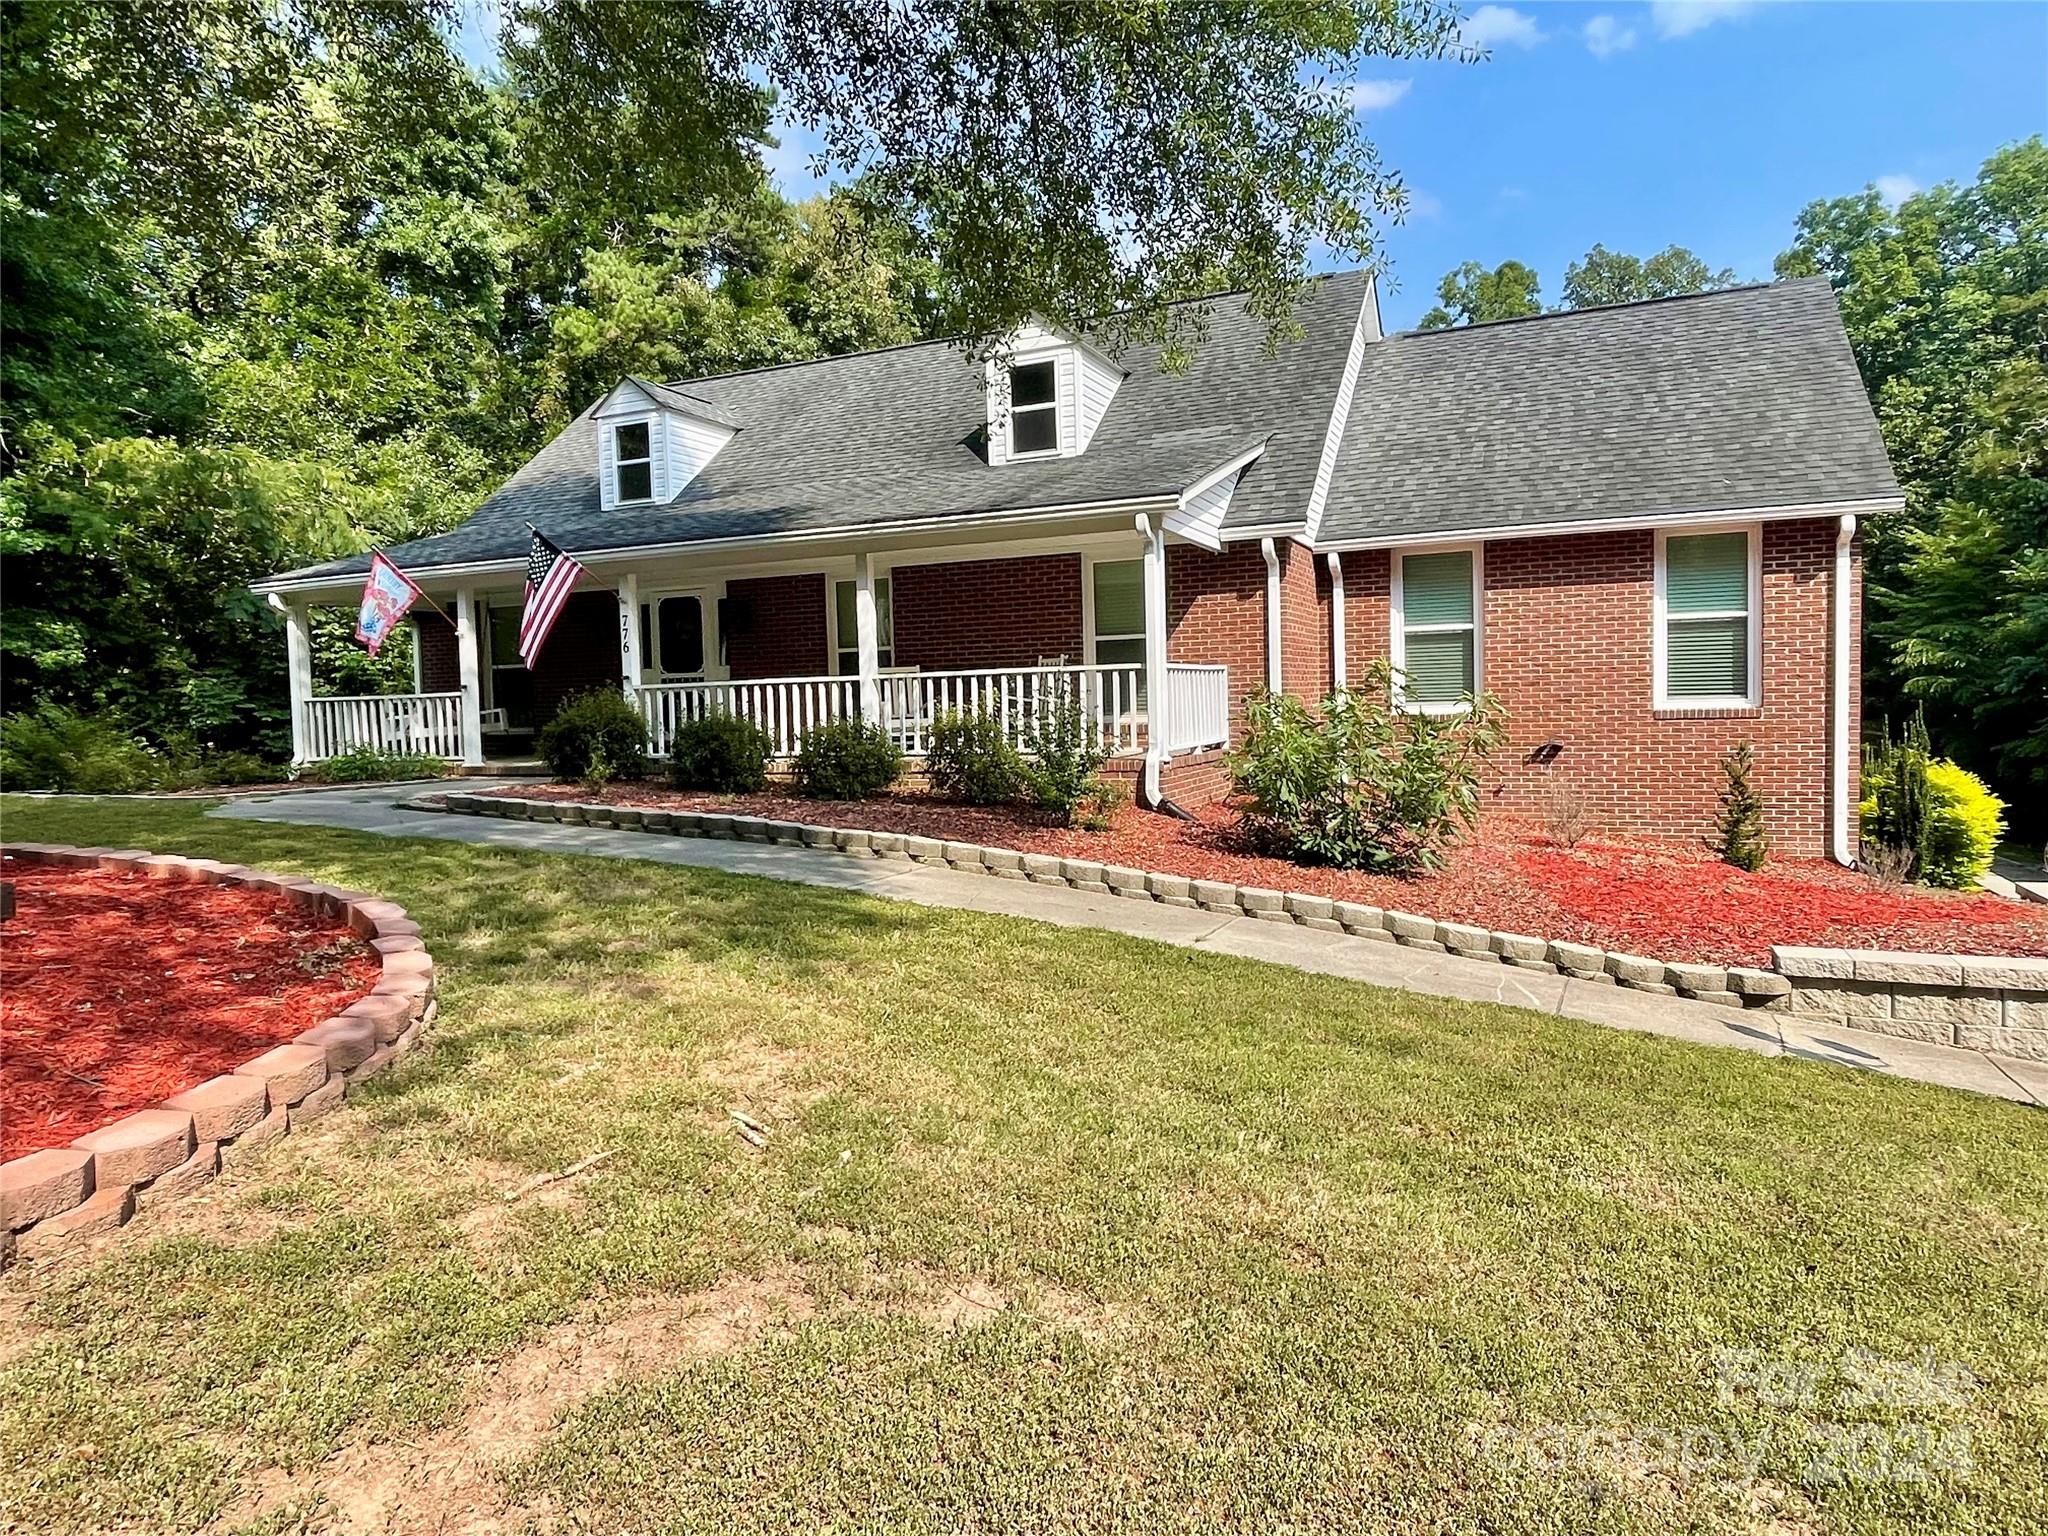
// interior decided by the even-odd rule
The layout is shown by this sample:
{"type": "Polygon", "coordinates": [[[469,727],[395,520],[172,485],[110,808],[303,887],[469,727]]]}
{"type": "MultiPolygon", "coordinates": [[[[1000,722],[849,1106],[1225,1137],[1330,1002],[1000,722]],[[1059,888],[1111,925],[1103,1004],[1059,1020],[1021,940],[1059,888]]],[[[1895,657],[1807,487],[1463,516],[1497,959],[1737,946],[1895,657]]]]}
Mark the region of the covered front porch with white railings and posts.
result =
{"type": "Polygon", "coordinates": [[[313,598],[287,596],[295,760],[373,748],[479,768],[530,756],[567,698],[621,688],[657,758],[717,713],[762,727],[784,760],[840,719],[874,721],[915,760],[950,711],[989,715],[1028,750],[1034,723],[1075,700],[1106,754],[1163,764],[1227,745],[1233,700],[1227,664],[1184,655],[1192,635],[1169,659],[1167,545],[1141,518],[1004,545],[588,559],[532,670],[516,653],[518,571],[422,571],[449,618],[416,608],[416,686],[377,696],[313,690],[313,598]]]}

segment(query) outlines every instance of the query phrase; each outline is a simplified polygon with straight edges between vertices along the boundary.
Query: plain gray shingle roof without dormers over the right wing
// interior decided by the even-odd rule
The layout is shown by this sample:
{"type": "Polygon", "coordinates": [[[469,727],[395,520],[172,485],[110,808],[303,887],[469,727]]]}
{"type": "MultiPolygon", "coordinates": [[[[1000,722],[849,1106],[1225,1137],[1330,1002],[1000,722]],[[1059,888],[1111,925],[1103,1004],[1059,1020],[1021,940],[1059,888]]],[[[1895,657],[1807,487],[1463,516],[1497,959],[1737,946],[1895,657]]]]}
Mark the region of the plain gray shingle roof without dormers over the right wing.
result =
{"type": "Polygon", "coordinates": [[[1366,348],[1317,543],[1894,496],[1802,279],[1366,348]]]}

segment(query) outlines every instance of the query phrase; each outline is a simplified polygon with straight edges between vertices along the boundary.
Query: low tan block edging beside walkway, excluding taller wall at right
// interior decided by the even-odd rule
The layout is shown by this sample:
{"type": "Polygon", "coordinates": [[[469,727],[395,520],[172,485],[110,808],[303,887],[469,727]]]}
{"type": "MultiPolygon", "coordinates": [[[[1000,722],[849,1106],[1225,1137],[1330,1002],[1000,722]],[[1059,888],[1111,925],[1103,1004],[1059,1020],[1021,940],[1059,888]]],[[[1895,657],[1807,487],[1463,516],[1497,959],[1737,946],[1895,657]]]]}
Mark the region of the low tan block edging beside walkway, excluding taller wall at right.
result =
{"type": "Polygon", "coordinates": [[[438,799],[406,801],[416,811],[446,811],[451,815],[496,815],[514,821],[559,821],[590,827],[627,827],[684,838],[741,838],[750,842],[782,842],[805,848],[836,848],[868,858],[909,858],[920,864],[995,874],[1038,885],[1067,885],[1096,895],[1118,895],[1133,901],[1161,901],[1169,907],[1200,907],[1225,915],[1290,922],[1303,928],[1346,932],[1384,944],[1407,944],[1419,950],[1462,954],[1473,961],[1497,961],[1524,971],[1548,971],[1599,985],[1630,987],[1667,997],[1722,1004],[1726,1008],[1788,1008],[1792,981],[1778,971],[1739,965],[1690,965],[1657,961],[1642,954],[1602,950],[1593,944],[1573,944],[1561,938],[1499,934],[1470,924],[1438,922],[1413,911],[1370,907],[1358,901],[1307,895],[1303,891],[1268,891],[1229,881],[1200,881],[1188,874],[1100,864],[1085,858],[1055,854],[1024,854],[1014,848],[983,848],[969,842],[918,838],[903,831],[860,831],[854,827],[817,827],[801,821],[768,821],[729,815],[725,811],[649,811],[629,805],[580,805],[573,801],[526,801],[512,795],[451,793],[438,799]]]}

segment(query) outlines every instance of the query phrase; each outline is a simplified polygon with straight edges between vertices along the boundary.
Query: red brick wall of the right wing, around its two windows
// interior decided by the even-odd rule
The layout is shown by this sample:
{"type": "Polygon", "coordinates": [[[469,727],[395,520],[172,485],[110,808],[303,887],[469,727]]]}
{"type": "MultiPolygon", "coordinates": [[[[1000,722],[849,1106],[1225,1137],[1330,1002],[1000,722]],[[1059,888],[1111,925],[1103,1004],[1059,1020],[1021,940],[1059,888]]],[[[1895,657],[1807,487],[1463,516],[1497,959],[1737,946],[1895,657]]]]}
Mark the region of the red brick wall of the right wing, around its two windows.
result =
{"type": "MultiPolygon", "coordinates": [[[[1755,711],[1651,707],[1653,561],[1649,530],[1487,545],[1485,686],[1509,717],[1489,805],[1540,817],[1552,782],[1569,778],[1589,791],[1604,831],[1704,838],[1726,782],[1720,756],[1747,739],[1776,852],[1825,854],[1835,524],[1763,526],[1763,707],[1755,711]],[[1563,752],[1544,768],[1532,754],[1552,739],[1563,752]]],[[[1343,561],[1354,682],[1366,662],[1386,655],[1386,571],[1378,551],[1343,561]]],[[[1860,606],[1860,559],[1853,596],[1860,606]]],[[[1860,637],[1860,627],[1851,633],[1860,637]]],[[[1851,678],[1858,668],[1851,655],[1851,678]]],[[[1851,752],[1855,729],[1851,713],[1851,752]]]]}

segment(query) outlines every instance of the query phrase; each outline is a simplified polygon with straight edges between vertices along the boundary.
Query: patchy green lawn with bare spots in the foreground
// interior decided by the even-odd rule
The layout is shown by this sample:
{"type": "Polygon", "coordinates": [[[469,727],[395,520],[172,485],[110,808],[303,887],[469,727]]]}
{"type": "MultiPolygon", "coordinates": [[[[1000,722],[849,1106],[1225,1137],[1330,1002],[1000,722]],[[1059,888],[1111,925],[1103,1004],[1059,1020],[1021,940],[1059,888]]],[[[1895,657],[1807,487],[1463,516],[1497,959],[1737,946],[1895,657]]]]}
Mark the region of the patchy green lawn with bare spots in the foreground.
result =
{"type": "Polygon", "coordinates": [[[0,1528],[2048,1522],[2040,1112],[657,864],[4,831],[389,895],[442,1012],[0,1280],[0,1528]]]}

